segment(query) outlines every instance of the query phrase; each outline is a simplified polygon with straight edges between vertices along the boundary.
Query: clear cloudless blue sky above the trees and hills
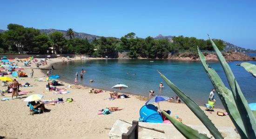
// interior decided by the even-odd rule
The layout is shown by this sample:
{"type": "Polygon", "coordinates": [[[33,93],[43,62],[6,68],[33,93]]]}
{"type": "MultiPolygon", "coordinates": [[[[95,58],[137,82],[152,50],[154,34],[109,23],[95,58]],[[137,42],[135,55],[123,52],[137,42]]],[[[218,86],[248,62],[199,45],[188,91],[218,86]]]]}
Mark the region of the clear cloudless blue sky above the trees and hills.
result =
{"type": "Polygon", "coordinates": [[[37,29],[120,38],[129,32],[220,38],[256,49],[256,0],[1,0],[0,29],[37,29]]]}

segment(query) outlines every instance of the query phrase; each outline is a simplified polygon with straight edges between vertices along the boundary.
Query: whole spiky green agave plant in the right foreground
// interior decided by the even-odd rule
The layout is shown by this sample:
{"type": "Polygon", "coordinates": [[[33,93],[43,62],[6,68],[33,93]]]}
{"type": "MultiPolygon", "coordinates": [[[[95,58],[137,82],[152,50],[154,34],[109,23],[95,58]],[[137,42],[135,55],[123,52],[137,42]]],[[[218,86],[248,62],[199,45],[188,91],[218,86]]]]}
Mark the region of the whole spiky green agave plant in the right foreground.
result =
{"type": "MultiPolygon", "coordinates": [[[[229,88],[227,88],[222,82],[220,76],[216,73],[216,71],[209,67],[208,63],[205,61],[205,57],[202,52],[198,48],[199,57],[202,61],[203,67],[209,76],[210,81],[213,86],[216,88],[217,94],[222,101],[222,104],[226,111],[228,112],[230,119],[236,126],[238,133],[240,134],[242,139],[256,139],[256,112],[252,112],[249,108],[248,102],[243,96],[243,93],[236,82],[236,78],[231,71],[228,63],[225,58],[222,56],[222,53],[218,50],[212,39],[209,37],[211,44],[213,45],[214,50],[216,51],[216,55],[222,64],[222,68],[224,69],[225,75],[228,79],[229,88]]],[[[249,72],[255,74],[255,70],[252,70],[252,66],[250,65],[248,68],[248,64],[242,63],[241,66],[247,67],[246,70],[249,69],[249,72]]],[[[159,72],[159,71],[158,71],[159,72]]],[[[160,73],[160,72],[159,72],[160,73]]],[[[191,100],[185,93],[183,93],[179,88],[177,88],[172,82],[170,82],[164,75],[160,73],[161,77],[165,80],[170,88],[185,102],[185,104],[195,113],[195,115],[202,121],[202,123],[207,127],[210,133],[216,139],[222,139],[221,134],[218,132],[217,128],[212,124],[209,118],[203,113],[202,109],[198,107],[193,100],[191,100]],[[209,122],[210,121],[210,122],[209,122]],[[214,128],[212,127],[214,126],[214,128]]],[[[163,111],[162,111],[163,112],[163,111]]],[[[202,134],[198,133],[194,129],[188,126],[181,126],[182,123],[175,122],[168,114],[164,113],[167,118],[174,124],[174,126],[188,139],[193,139],[193,135],[198,135],[200,138],[205,138],[202,134]]]]}

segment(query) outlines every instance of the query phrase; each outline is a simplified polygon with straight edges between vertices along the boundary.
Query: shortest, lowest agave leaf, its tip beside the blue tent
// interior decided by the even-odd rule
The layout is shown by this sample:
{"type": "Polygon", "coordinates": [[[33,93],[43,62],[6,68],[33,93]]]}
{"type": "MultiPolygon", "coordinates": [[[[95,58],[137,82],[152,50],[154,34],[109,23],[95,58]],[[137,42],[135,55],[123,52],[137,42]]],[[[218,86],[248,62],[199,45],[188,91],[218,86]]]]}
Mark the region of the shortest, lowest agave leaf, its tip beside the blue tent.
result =
{"type": "Polygon", "coordinates": [[[167,114],[165,111],[162,110],[162,113],[172,122],[172,124],[175,126],[177,130],[179,130],[182,135],[187,139],[209,139],[206,135],[199,133],[197,130],[194,130],[193,128],[186,126],[167,114]]]}

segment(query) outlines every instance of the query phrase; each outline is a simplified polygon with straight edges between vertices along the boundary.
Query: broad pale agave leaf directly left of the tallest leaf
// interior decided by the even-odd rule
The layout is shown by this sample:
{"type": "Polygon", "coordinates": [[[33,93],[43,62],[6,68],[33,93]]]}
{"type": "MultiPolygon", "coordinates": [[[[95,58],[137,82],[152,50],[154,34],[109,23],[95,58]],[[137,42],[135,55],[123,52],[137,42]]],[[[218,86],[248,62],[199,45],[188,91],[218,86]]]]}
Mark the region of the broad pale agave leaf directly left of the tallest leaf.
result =
{"type": "Polygon", "coordinates": [[[234,97],[232,95],[232,92],[227,88],[224,83],[222,82],[220,76],[217,74],[217,72],[209,67],[208,63],[205,61],[205,56],[200,51],[199,47],[197,46],[197,50],[199,53],[199,57],[202,61],[202,65],[204,67],[205,72],[207,73],[210,81],[212,82],[214,88],[216,89],[217,95],[220,97],[220,100],[222,101],[223,106],[225,107],[226,111],[229,114],[230,119],[236,126],[236,129],[238,133],[240,134],[241,138],[247,138],[246,131],[243,126],[243,121],[241,118],[241,115],[236,107],[236,103],[234,100],[234,97]]]}

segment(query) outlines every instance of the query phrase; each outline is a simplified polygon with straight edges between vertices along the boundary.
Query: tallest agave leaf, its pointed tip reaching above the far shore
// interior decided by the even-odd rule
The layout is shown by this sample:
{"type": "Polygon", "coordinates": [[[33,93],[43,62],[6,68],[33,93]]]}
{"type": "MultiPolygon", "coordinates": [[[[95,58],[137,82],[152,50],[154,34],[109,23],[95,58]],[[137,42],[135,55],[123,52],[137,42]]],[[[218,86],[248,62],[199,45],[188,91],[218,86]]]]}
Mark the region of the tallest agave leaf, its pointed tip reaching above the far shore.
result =
{"type": "Polygon", "coordinates": [[[256,118],[254,117],[252,111],[249,108],[248,102],[243,96],[243,93],[236,82],[235,76],[231,71],[229,64],[226,62],[225,58],[222,56],[222,53],[219,51],[217,46],[214,44],[212,39],[209,37],[211,44],[216,51],[216,55],[222,64],[222,68],[224,69],[225,75],[228,79],[229,86],[231,88],[232,94],[234,96],[234,100],[236,102],[236,107],[241,115],[243,120],[243,125],[249,139],[256,139],[256,118]]]}

